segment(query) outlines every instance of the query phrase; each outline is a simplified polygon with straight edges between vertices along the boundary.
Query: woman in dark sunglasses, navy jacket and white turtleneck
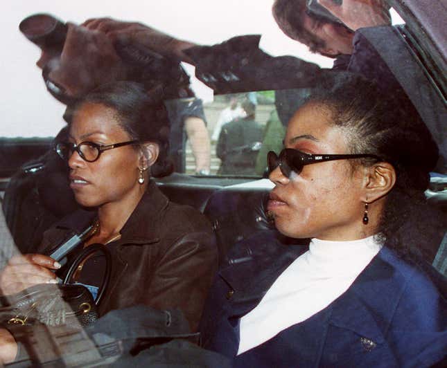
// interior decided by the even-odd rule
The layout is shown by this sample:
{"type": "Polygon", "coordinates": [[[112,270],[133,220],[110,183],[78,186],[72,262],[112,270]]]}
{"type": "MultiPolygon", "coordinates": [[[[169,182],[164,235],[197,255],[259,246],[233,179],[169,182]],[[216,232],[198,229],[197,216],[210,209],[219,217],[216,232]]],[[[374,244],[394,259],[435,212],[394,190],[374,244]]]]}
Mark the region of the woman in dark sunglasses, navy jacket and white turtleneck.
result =
{"type": "Polygon", "coordinates": [[[296,111],[283,151],[268,155],[268,210],[281,235],[230,252],[202,318],[205,348],[234,367],[444,358],[445,279],[421,259],[445,231],[424,197],[438,151],[413,112],[355,77],[296,111]]]}

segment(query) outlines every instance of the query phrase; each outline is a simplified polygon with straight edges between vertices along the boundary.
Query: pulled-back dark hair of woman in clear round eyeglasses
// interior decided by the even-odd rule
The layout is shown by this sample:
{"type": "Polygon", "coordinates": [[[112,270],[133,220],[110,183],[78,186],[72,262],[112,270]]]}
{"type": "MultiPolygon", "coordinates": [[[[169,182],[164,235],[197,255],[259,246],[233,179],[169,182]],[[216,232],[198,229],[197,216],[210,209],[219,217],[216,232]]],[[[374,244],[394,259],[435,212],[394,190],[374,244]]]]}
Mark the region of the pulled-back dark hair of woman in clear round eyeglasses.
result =
{"type": "Polygon", "coordinates": [[[155,177],[173,172],[173,163],[168,159],[170,122],[164,102],[154,93],[148,93],[143,84],[137,82],[112,82],[103,84],[87,93],[69,107],[68,122],[82,104],[102,104],[114,109],[119,125],[132,140],[157,142],[159,156],[151,167],[155,177]]]}

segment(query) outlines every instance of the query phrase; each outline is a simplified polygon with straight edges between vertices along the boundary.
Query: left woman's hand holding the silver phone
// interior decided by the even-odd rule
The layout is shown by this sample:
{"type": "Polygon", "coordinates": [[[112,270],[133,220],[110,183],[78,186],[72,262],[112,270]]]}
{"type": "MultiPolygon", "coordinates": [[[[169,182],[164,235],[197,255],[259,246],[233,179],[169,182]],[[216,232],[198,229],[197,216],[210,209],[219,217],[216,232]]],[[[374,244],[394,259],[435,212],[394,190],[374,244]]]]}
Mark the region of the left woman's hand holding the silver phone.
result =
{"type": "Polygon", "coordinates": [[[28,254],[12,257],[0,273],[0,289],[3,295],[19,293],[37,284],[57,284],[59,262],[46,255],[28,254]]]}

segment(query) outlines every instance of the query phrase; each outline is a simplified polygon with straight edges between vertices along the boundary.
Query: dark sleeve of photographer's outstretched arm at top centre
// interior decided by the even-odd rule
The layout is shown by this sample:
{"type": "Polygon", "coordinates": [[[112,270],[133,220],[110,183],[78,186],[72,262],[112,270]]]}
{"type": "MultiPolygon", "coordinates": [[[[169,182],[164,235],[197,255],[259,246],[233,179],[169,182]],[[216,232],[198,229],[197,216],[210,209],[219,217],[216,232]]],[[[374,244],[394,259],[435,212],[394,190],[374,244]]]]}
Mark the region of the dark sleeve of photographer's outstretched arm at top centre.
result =
{"type": "Polygon", "coordinates": [[[258,47],[260,39],[260,35],[237,36],[184,52],[193,60],[195,76],[215,93],[315,86],[319,66],[288,55],[272,57],[258,47]]]}

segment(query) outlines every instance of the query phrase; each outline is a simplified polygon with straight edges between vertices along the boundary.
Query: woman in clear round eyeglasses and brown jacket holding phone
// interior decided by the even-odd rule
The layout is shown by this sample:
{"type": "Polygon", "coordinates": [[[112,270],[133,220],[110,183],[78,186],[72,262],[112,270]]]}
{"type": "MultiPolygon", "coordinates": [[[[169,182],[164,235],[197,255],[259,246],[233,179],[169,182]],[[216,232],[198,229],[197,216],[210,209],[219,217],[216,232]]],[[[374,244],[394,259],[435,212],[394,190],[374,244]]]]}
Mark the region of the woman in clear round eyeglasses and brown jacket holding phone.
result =
{"type": "MultiPolygon", "coordinates": [[[[51,271],[60,264],[46,255],[87,223],[93,230],[81,248],[102,243],[112,253],[100,315],[136,304],[178,308],[195,331],[216,272],[217,250],[207,219],[171,203],[151,180],[172,171],[163,103],[139,84],[119,82],[89,93],[73,107],[70,120],[68,140],[55,148],[67,160],[70,187],[84,209],[46,231],[41,254],[10,260],[0,277],[3,295],[57,282],[51,271]]],[[[103,262],[92,257],[75,276],[94,294],[103,262]]]]}

